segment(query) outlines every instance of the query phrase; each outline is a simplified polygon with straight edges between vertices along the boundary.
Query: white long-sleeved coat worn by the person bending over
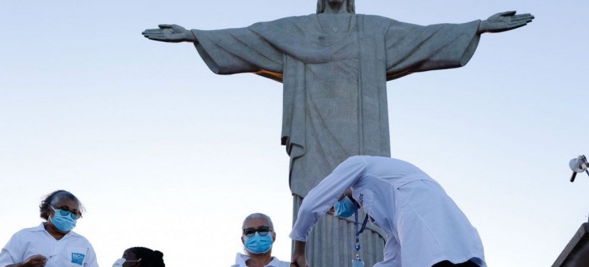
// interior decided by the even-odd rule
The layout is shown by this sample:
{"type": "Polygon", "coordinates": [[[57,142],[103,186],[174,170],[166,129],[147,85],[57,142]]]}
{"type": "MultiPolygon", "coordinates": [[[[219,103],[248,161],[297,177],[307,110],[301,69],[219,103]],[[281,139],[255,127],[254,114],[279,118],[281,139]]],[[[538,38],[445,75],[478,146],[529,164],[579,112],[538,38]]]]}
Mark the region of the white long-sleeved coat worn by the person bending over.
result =
{"type": "Polygon", "coordinates": [[[313,225],[348,188],[387,235],[384,260],[374,266],[424,267],[444,260],[487,266],[477,230],[441,186],[393,158],[362,155],[342,162],[307,194],[290,237],[307,241],[313,225]]]}

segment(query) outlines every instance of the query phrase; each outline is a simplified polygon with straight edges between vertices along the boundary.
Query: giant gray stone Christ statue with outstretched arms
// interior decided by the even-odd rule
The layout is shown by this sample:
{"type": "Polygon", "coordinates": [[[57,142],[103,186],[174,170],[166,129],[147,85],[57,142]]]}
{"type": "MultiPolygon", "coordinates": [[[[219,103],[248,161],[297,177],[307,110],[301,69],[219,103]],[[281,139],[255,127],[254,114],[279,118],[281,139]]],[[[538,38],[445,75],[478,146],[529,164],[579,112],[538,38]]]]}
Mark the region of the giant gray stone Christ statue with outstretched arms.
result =
{"type": "MultiPolygon", "coordinates": [[[[282,82],[282,145],[290,156],[295,217],[309,190],[346,158],[390,157],[387,81],[464,66],[482,33],[516,29],[534,18],[512,11],[464,24],[419,26],[354,10],[353,0],[319,0],[316,14],[245,28],[162,24],[143,32],[151,40],[194,43],[213,73],[254,73],[282,82]]],[[[307,243],[309,264],[349,266],[353,227],[330,215],[322,220],[307,243]]],[[[374,251],[382,248],[380,234],[363,234],[374,241],[363,249],[367,266],[381,257],[374,251]]]]}

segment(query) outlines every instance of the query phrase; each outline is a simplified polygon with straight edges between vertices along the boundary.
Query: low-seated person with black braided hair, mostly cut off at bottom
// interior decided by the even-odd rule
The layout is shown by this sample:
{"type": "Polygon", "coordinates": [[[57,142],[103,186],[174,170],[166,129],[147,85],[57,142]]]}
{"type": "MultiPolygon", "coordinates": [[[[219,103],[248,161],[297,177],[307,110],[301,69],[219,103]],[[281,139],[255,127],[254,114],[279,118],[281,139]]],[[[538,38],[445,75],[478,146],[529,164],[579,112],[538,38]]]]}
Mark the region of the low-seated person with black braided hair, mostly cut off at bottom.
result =
{"type": "Polygon", "coordinates": [[[123,252],[123,258],[117,259],[112,267],[166,267],[164,254],[147,247],[131,247],[123,252]]]}

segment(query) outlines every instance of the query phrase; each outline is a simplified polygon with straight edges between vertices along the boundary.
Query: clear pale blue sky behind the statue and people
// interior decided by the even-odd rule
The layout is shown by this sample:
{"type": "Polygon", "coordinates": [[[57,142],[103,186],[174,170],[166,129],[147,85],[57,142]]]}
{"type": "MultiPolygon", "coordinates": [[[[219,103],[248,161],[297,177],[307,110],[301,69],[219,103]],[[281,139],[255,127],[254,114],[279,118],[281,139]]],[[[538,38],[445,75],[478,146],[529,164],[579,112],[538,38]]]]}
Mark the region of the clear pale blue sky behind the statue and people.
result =
{"type": "MultiPolygon", "coordinates": [[[[464,68],[388,82],[392,155],[436,178],[480,232],[489,266],[549,266],[588,220],[589,23],[585,0],[356,1],[415,24],[533,13],[485,34],[464,68]]],[[[282,84],[214,75],[188,43],[146,40],[175,23],[224,29],[314,13],[305,1],[4,1],[0,49],[0,243],[70,190],[75,229],[101,266],[123,250],[168,266],[230,266],[243,218],[275,220],[288,260],[291,195],[280,146],[282,84]],[[203,3],[204,2],[204,3],[203,3]]],[[[319,267],[319,266],[316,266],[319,267]]]]}

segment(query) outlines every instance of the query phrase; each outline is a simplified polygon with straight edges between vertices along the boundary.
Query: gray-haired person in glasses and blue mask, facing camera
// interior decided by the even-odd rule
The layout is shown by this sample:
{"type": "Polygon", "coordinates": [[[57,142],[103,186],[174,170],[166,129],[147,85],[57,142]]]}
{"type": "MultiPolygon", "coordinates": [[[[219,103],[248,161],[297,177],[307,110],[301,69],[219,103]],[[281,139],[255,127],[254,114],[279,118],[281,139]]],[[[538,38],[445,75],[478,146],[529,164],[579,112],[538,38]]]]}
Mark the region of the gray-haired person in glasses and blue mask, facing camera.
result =
{"type": "Polygon", "coordinates": [[[272,257],[276,240],[274,224],[268,215],[252,213],[243,220],[241,243],[247,255],[238,253],[231,267],[290,267],[291,263],[272,257]]]}

